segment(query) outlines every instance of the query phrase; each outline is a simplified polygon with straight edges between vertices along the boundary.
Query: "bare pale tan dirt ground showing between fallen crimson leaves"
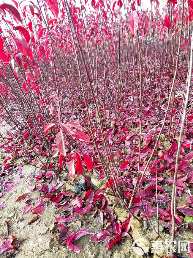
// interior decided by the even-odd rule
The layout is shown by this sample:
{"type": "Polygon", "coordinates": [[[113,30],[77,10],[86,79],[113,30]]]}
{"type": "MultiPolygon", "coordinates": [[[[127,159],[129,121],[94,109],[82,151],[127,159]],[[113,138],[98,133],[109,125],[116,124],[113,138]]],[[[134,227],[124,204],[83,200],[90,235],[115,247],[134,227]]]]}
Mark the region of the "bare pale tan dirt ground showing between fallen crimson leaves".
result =
{"type": "MultiPolygon", "coordinates": [[[[10,126],[5,124],[2,132],[5,133],[6,130],[10,129],[10,126]]],[[[2,133],[1,132],[1,133],[2,133]]],[[[3,162],[6,154],[0,152],[0,164],[3,162]]],[[[18,160],[17,162],[22,162],[18,160]]],[[[67,249],[67,246],[58,245],[53,239],[53,234],[51,229],[53,228],[53,223],[55,218],[53,215],[56,215],[55,208],[51,203],[48,204],[45,212],[39,215],[37,221],[31,225],[27,225],[29,221],[34,218],[31,212],[27,212],[24,215],[21,215],[21,209],[25,205],[22,202],[15,202],[15,200],[24,193],[29,193],[31,198],[34,198],[36,201],[40,196],[39,193],[35,191],[30,191],[27,187],[26,179],[34,176],[36,173],[35,168],[31,165],[23,165],[23,176],[18,180],[18,186],[15,187],[12,191],[7,193],[4,197],[0,198],[0,202],[6,200],[6,204],[3,209],[0,209],[0,234],[5,237],[11,237],[13,234],[16,238],[21,239],[25,238],[21,242],[20,248],[22,251],[16,254],[17,258],[139,258],[139,257],[170,257],[171,254],[167,253],[149,253],[149,256],[138,255],[133,250],[132,243],[134,240],[143,238],[147,242],[147,245],[151,248],[151,241],[158,239],[157,234],[154,232],[151,225],[148,226],[148,229],[145,230],[144,226],[141,225],[135,219],[131,219],[131,230],[129,231],[131,238],[126,237],[124,244],[114,245],[110,251],[104,246],[104,243],[93,243],[89,241],[90,235],[81,237],[77,240],[76,245],[82,249],[80,253],[74,253],[71,250],[67,249]],[[23,217],[23,218],[22,218],[23,217]],[[11,221],[8,235],[6,235],[6,221],[11,221]],[[165,256],[166,255],[166,256],[165,256]]],[[[9,178],[9,181],[17,181],[14,177],[9,178]]],[[[115,215],[120,219],[120,221],[125,220],[128,217],[128,213],[121,207],[117,206],[115,208],[115,215]]],[[[56,215],[57,216],[57,215],[56,215]]],[[[101,230],[100,224],[97,222],[96,218],[91,218],[89,215],[84,215],[85,219],[88,220],[88,224],[83,226],[83,228],[90,229],[93,233],[99,232],[101,230]]],[[[152,225],[157,228],[156,218],[151,219],[152,225]]],[[[78,226],[75,221],[68,223],[71,229],[78,229],[78,226]]],[[[164,230],[164,227],[159,225],[159,232],[163,239],[170,239],[170,234],[164,230]]],[[[192,233],[189,231],[184,232],[180,231],[181,237],[179,240],[192,240],[192,233]]],[[[139,247],[138,247],[139,248],[139,247]]],[[[189,257],[187,253],[181,254],[181,257],[189,257]]],[[[0,257],[6,257],[6,254],[1,254],[0,257]]]]}

